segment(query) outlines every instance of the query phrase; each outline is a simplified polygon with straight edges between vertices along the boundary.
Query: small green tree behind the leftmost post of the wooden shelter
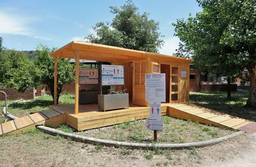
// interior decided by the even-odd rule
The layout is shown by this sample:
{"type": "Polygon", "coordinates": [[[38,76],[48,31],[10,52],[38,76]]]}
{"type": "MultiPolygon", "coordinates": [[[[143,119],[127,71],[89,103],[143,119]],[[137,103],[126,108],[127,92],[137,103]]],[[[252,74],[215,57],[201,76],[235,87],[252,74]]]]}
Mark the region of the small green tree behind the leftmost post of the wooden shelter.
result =
{"type": "MultiPolygon", "coordinates": [[[[56,48],[49,48],[44,45],[38,45],[36,51],[38,55],[35,59],[35,66],[38,68],[38,83],[47,85],[54,99],[54,58],[49,53],[56,48]]],[[[74,66],[69,62],[69,59],[58,60],[58,83],[57,83],[57,103],[59,101],[61,90],[65,83],[74,82],[74,66]]]]}

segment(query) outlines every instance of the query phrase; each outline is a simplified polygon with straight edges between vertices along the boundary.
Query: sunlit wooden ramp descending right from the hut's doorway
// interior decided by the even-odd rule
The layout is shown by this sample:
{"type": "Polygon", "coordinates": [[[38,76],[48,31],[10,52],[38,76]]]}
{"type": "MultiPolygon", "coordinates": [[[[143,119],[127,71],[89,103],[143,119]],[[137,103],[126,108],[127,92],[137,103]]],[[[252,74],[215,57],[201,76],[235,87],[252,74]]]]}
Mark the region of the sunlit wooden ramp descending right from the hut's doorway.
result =
{"type": "MultiPolygon", "coordinates": [[[[193,120],[214,126],[226,126],[243,131],[246,131],[246,128],[244,127],[252,127],[252,125],[255,124],[255,122],[250,120],[233,117],[228,114],[191,104],[170,104],[168,115],[179,119],[193,120]]],[[[254,132],[256,132],[256,126],[252,128],[255,128],[254,132]]],[[[250,128],[250,132],[246,132],[252,133],[252,128],[250,128]]]]}

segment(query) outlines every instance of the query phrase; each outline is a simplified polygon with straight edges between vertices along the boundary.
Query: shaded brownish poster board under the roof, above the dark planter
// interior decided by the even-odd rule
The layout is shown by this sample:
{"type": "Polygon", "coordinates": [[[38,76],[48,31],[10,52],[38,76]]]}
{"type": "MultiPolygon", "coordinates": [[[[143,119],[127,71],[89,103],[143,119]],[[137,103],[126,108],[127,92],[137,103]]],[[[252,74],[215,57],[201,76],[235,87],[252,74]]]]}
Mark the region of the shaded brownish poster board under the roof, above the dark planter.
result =
{"type": "Polygon", "coordinates": [[[95,68],[80,68],[79,69],[79,84],[98,84],[98,69],[95,68]]]}

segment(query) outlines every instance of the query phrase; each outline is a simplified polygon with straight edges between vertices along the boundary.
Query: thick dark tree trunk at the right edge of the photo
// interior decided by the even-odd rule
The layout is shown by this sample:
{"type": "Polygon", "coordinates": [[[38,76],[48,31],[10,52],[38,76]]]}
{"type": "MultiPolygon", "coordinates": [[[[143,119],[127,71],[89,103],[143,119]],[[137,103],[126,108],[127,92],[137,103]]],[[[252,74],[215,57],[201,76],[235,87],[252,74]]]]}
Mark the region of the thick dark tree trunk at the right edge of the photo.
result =
{"type": "Polygon", "coordinates": [[[256,65],[248,68],[250,74],[249,97],[246,106],[256,108],[256,65]]]}

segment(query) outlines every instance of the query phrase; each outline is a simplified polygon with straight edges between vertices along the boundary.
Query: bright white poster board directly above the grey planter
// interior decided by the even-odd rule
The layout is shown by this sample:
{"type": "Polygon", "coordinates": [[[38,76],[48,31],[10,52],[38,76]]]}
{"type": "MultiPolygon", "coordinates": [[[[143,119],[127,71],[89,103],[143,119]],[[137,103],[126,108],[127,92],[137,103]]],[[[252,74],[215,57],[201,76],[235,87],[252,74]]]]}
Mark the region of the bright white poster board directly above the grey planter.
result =
{"type": "Polygon", "coordinates": [[[101,66],[102,85],[124,85],[124,66],[101,66]]]}

